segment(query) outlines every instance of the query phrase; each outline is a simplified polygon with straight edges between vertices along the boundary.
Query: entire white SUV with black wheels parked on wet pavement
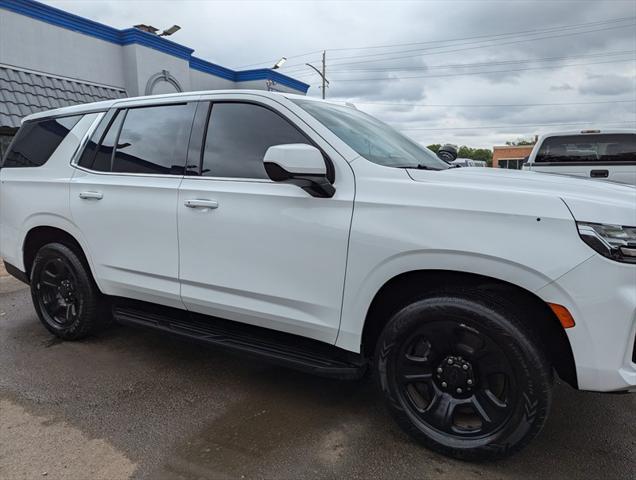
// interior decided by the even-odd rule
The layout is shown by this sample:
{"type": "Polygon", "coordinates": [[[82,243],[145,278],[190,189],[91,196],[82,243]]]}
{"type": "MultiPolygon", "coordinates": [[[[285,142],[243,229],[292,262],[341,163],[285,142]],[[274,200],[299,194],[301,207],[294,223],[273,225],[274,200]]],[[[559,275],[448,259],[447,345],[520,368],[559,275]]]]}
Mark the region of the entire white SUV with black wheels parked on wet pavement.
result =
{"type": "Polygon", "coordinates": [[[31,115],[1,255],[53,334],[109,317],[339,378],[414,438],[526,445],[553,371],[636,389],[636,189],[450,168],[360,111],[250,91],[31,115]]]}

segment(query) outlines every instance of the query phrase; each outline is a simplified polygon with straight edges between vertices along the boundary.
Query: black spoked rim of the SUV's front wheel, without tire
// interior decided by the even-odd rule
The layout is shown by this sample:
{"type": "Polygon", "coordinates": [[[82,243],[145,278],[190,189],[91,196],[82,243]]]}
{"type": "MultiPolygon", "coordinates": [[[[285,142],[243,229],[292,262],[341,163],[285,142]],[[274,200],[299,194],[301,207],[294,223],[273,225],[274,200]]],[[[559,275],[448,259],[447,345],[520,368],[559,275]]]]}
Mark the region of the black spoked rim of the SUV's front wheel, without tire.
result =
{"type": "Polygon", "coordinates": [[[422,324],[404,343],[400,357],[399,394],[431,434],[491,434],[519,401],[505,353],[464,323],[422,324]]]}

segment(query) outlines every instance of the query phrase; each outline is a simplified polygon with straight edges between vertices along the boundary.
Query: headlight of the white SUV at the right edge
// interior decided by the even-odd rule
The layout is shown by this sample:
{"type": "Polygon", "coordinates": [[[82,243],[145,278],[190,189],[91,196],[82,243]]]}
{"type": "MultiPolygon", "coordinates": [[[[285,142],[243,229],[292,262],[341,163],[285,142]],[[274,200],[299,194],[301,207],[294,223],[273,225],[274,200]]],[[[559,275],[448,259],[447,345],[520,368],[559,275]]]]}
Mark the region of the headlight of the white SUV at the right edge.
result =
{"type": "Polygon", "coordinates": [[[636,227],[586,222],[576,225],[583,241],[604,257],[636,263],[636,227]]]}

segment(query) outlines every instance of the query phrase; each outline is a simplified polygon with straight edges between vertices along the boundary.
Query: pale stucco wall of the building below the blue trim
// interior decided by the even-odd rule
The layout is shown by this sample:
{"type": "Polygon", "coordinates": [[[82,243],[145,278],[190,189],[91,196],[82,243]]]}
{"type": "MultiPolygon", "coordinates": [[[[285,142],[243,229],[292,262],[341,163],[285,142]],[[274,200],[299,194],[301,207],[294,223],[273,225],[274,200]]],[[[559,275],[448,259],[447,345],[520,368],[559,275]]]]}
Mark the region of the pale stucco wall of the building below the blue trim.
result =
{"type": "MultiPolygon", "coordinates": [[[[0,64],[126,90],[144,95],[155,74],[167,70],[182,91],[267,90],[266,80],[233,82],[190,68],[189,61],[139,44],[121,46],[0,8],[0,64]]],[[[301,93],[277,84],[278,91],[301,93]]],[[[169,83],[153,93],[173,91],[169,83]]]]}

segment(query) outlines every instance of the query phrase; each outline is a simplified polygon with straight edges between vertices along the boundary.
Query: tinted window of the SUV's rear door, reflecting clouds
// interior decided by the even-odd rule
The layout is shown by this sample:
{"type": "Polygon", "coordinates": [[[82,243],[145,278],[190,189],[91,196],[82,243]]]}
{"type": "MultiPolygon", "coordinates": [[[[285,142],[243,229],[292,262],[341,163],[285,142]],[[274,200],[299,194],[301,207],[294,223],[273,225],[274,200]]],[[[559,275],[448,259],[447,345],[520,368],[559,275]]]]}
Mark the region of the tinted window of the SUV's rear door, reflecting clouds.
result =
{"type": "Polygon", "coordinates": [[[183,175],[195,107],[183,103],[110,114],[79,165],[100,172],[183,175]]]}

